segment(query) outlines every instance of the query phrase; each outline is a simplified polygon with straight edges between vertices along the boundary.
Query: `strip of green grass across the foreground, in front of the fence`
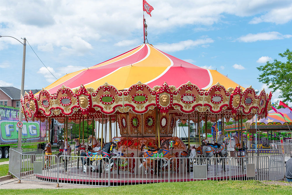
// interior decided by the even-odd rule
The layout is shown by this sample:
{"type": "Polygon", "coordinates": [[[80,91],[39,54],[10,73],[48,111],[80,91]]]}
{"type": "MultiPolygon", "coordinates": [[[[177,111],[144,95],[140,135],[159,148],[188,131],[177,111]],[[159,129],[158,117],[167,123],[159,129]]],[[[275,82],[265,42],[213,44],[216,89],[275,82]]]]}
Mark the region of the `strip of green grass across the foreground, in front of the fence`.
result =
{"type": "Polygon", "coordinates": [[[0,194],[291,194],[291,186],[259,181],[196,181],[84,189],[1,189],[0,194]]]}

